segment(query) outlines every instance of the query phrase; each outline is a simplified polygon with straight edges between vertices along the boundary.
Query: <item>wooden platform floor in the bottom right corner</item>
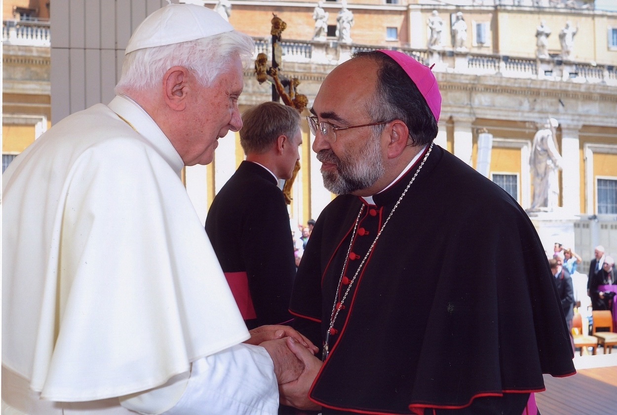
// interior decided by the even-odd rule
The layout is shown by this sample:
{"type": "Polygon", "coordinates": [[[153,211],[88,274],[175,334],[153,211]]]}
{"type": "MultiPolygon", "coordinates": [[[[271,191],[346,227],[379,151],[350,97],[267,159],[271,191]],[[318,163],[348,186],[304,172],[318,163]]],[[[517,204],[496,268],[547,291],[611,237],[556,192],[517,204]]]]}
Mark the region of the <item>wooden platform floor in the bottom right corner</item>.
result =
{"type": "MultiPolygon", "coordinates": [[[[602,353],[602,348],[599,350],[602,353]]],[[[574,376],[544,375],[547,390],[536,393],[540,414],[616,415],[617,350],[613,353],[576,357],[574,376]]]]}

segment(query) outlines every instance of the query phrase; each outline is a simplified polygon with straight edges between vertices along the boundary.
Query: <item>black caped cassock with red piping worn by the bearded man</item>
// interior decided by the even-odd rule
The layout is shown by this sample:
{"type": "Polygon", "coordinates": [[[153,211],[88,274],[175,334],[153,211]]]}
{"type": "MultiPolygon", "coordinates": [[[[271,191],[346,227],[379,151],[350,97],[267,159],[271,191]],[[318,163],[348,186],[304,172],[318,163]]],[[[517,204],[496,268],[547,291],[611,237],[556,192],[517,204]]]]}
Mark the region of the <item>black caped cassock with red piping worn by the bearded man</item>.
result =
{"type": "MultiPolygon", "coordinates": [[[[316,345],[419,164],[375,205],[341,195],[318,218],[291,300],[316,345]]],[[[520,415],[542,373],[574,373],[553,279],[518,203],[434,146],[342,304],[309,397],[325,415],[520,415]]]]}

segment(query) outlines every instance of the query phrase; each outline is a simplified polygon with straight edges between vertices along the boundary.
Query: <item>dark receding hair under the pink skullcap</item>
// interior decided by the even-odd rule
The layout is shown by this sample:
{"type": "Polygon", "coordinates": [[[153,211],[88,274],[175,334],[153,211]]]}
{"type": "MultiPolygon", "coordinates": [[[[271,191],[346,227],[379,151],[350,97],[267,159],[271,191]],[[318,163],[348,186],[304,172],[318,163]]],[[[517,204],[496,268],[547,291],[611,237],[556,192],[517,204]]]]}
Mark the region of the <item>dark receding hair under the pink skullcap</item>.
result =
{"type": "MultiPolygon", "coordinates": [[[[437,136],[437,120],[403,68],[378,51],[355,52],[353,57],[372,59],[379,64],[375,100],[368,105],[373,122],[403,121],[409,129],[413,146],[424,146],[433,141],[437,136]]],[[[383,129],[384,126],[378,128],[383,129]]]]}

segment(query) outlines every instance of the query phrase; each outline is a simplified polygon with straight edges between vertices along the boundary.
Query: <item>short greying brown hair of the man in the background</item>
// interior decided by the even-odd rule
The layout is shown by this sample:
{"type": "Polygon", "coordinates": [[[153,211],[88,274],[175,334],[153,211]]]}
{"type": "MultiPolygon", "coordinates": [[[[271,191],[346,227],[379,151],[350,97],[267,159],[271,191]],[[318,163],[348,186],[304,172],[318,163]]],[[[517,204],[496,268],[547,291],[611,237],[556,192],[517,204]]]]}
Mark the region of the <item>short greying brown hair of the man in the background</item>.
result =
{"type": "Polygon", "coordinates": [[[240,145],[244,154],[263,154],[283,135],[290,140],[300,129],[300,113],[292,107],[268,101],[242,114],[240,145]]]}

